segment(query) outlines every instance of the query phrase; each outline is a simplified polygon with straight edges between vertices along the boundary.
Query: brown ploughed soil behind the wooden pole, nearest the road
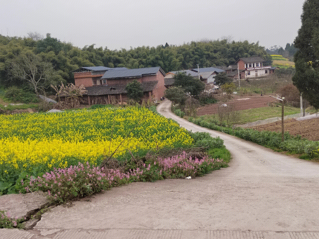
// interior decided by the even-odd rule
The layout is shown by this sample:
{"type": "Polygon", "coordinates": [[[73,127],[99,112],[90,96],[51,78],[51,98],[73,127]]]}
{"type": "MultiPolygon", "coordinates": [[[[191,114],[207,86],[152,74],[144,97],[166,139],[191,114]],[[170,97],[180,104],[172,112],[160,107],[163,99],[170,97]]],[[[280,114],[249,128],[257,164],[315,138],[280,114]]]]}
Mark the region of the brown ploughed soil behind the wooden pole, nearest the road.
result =
{"type": "MultiPolygon", "coordinates": [[[[258,131],[268,130],[281,132],[281,121],[273,122],[270,124],[260,125],[253,127],[258,131]]],[[[301,135],[302,138],[308,140],[319,141],[319,118],[311,120],[285,120],[284,130],[288,131],[292,135],[301,135]]]]}

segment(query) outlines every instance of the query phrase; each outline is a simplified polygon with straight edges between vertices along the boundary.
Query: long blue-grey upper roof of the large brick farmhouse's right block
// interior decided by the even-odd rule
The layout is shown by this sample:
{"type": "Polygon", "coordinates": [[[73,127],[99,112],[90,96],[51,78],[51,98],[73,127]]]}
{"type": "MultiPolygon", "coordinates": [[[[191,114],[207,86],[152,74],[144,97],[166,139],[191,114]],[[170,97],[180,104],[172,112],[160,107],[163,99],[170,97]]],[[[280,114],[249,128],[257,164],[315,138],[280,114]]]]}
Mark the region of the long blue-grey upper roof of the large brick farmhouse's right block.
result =
{"type": "Polygon", "coordinates": [[[158,71],[161,71],[165,76],[165,72],[157,67],[149,68],[137,68],[137,69],[124,69],[124,70],[108,70],[104,73],[101,79],[115,79],[115,78],[135,78],[142,77],[143,75],[155,75],[158,71]]]}

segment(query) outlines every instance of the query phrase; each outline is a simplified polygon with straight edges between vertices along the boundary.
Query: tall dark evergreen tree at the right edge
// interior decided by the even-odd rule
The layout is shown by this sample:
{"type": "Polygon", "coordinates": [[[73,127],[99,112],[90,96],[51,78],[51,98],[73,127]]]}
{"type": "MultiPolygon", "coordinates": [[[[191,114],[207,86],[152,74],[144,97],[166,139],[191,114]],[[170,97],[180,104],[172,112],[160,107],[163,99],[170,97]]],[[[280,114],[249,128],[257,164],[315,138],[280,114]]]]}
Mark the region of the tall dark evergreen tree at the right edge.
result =
{"type": "Polygon", "coordinates": [[[311,105],[319,108],[319,0],[306,0],[301,28],[294,41],[296,74],[293,84],[311,105]]]}

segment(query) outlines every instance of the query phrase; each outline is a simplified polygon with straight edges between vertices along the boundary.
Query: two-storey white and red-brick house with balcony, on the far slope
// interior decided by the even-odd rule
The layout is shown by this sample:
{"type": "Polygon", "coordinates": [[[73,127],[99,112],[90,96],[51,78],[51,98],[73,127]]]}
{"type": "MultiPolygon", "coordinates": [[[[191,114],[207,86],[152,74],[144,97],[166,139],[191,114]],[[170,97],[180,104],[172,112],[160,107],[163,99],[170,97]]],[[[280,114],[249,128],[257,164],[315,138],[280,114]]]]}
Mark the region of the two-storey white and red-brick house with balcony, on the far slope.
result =
{"type": "Polygon", "coordinates": [[[254,78],[259,76],[270,76],[274,71],[271,71],[271,62],[266,62],[260,56],[242,57],[236,62],[240,70],[244,70],[243,78],[254,78]]]}

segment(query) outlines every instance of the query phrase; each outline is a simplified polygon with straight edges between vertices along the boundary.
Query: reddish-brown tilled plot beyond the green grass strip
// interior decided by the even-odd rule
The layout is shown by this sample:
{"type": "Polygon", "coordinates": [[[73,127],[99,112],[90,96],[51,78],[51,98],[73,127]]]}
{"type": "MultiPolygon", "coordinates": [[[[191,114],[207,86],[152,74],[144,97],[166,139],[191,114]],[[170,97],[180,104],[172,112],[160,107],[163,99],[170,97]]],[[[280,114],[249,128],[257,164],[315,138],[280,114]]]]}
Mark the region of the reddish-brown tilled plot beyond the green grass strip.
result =
{"type": "MultiPolygon", "coordinates": [[[[265,107],[268,103],[274,101],[275,99],[270,96],[247,96],[241,98],[249,98],[246,100],[237,100],[233,99],[228,102],[225,102],[226,105],[235,105],[236,110],[248,110],[255,109],[260,107],[265,107]]],[[[216,114],[217,113],[217,104],[207,105],[204,108],[198,109],[197,115],[205,114],[216,114]]]]}

